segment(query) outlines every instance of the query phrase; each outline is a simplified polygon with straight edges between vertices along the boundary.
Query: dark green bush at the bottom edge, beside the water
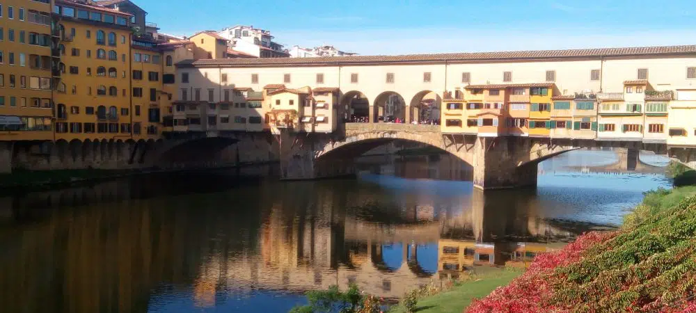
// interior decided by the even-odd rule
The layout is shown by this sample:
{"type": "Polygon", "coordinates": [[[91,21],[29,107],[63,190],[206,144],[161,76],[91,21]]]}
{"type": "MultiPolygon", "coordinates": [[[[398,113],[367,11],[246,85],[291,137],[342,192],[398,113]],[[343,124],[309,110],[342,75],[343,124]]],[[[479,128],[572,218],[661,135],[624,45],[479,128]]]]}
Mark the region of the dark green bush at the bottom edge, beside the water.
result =
{"type": "Polygon", "coordinates": [[[308,291],[307,300],[309,301],[308,305],[294,307],[290,312],[379,312],[379,300],[371,296],[363,297],[363,294],[356,284],[351,284],[345,292],[338,290],[338,286],[336,285],[329,287],[328,290],[308,291]],[[375,304],[375,302],[377,302],[377,304],[375,304]]]}

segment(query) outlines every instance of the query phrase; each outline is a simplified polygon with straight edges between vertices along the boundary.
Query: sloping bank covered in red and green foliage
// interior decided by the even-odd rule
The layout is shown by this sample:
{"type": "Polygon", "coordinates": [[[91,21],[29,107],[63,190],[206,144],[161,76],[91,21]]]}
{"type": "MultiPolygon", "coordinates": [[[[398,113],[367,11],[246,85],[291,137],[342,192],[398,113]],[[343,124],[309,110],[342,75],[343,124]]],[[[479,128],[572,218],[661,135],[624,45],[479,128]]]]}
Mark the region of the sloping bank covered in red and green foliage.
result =
{"type": "Polygon", "coordinates": [[[696,186],[646,193],[611,232],[590,232],[468,312],[695,312],[696,186]]]}

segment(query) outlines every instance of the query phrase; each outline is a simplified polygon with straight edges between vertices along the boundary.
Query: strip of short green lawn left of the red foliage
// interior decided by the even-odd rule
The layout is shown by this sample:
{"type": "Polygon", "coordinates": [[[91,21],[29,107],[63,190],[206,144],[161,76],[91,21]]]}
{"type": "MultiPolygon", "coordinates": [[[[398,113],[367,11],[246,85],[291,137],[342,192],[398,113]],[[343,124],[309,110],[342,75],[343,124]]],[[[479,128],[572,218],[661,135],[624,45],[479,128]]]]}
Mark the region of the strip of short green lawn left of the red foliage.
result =
{"type": "MultiPolygon", "coordinates": [[[[418,300],[418,312],[456,312],[459,313],[469,306],[473,298],[482,298],[490,294],[493,289],[509,283],[513,278],[521,275],[517,269],[491,268],[473,280],[458,282],[452,289],[435,296],[418,300]]],[[[392,312],[406,312],[404,307],[393,307],[392,312]]]]}

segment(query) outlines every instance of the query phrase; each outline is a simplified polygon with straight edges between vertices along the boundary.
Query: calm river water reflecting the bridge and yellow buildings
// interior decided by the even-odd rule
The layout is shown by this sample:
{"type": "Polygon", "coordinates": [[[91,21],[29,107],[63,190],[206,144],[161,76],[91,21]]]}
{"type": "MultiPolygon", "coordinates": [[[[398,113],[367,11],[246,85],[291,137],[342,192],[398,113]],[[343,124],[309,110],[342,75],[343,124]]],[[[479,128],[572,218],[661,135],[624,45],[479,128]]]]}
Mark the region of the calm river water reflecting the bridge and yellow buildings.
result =
{"type": "Polygon", "coordinates": [[[358,179],[248,168],[0,196],[0,312],[286,312],[351,282],[398,298],[620,225],[670,186],[665,159],[640,158],[622,172],[615,152],[569,152],[540,164],[536,189],[486,193],[432,155],[365,157],[358,179]]]}

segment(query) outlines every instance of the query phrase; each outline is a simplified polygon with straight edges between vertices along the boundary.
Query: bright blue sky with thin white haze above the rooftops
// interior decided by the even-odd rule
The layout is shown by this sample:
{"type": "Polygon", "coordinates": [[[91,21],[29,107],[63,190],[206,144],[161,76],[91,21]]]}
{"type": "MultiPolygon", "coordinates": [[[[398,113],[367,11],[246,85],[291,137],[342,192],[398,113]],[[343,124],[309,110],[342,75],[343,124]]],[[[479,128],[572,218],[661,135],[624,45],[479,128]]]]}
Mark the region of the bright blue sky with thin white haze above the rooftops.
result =
{"type": "Polygon", "coordinates": [[[173,35],[253,25],[361,55],[696,44],[693,0],[132,0],[173,35]]]}

